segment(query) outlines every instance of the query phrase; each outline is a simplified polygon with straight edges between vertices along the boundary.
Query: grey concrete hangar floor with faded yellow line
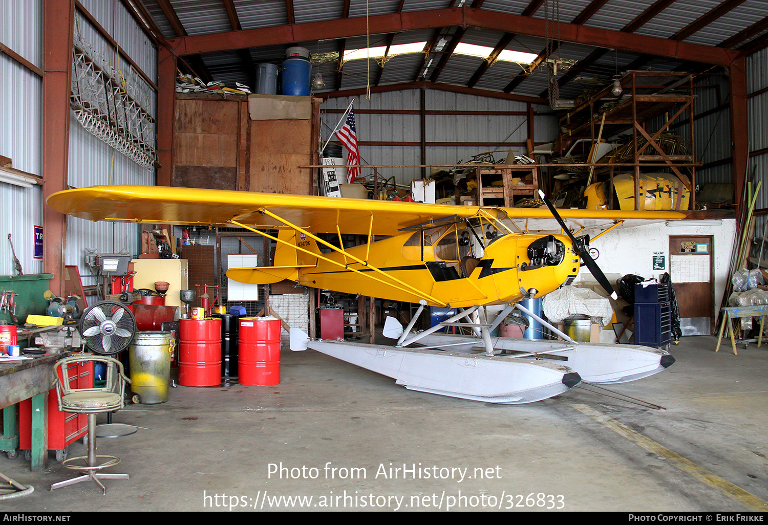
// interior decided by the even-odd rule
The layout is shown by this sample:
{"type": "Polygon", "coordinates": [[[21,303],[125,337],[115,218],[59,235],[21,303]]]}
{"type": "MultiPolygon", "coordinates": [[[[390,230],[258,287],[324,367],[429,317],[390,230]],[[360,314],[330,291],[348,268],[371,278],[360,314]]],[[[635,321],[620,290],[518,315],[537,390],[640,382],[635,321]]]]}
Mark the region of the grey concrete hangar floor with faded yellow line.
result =
{"type": "Polygon", "coordinates": [[[0,472],[35,487],[0,508],[768,510],[768,347],[715,344],[683,338],[671,368],[611,386],[664,411],[581,386],[526,405],[422,394],[284,345],[278,386],[172,388],[167,403],[115,414],[148,430],[98,441],[122,459],[111,471],[131,475],[105,480],[106,496],[90,481],[49,491],[72,477],[52,455],[45,473],[0,457],[0,472]]]}

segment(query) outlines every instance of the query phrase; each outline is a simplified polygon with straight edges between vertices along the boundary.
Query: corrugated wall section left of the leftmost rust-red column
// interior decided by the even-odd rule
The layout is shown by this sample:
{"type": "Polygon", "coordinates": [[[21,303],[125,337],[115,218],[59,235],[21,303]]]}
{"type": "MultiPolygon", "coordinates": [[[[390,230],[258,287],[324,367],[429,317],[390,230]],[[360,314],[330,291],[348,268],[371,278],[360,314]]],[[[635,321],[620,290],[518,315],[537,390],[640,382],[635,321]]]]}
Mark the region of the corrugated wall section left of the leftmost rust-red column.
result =
{"type": "MultiPolygon", "coordinates": [[[[0,1],[0,42],[38,68],[42,65],[42,2],[0,1]],[[30,28],[18,31],[18,28],[30,28]]],[[[0,53],[0,155],[18,170],[42,175],[42,78],[0,53]]],[[[41,225],[42,188],[0,182],[0,274],[13,275],[8,233],[25,273],[40,273],[34,226],[41,225]],[[12,206],[8,204],[12,203],[12,206]]]]}

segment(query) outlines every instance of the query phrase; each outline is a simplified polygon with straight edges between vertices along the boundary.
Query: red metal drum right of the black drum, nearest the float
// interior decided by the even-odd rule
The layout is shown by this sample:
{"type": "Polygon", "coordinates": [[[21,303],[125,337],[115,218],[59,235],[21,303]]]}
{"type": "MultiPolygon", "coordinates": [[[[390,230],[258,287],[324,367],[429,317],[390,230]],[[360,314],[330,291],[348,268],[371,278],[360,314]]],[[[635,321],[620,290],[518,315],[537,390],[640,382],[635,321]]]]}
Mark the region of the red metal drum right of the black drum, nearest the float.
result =
{"type": "Polygon", "coordinates": [[[237,368],[240,385],[280,384],[280,319],[241,317],[237,368]]]}

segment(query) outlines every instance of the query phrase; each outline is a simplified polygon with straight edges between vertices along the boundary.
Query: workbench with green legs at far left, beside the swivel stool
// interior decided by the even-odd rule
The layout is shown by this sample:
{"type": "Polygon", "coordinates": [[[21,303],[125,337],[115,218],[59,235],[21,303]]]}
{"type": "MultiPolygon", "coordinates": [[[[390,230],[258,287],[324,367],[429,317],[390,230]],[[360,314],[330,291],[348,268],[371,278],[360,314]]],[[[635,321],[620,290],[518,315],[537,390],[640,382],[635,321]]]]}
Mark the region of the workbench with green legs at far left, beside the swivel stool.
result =
{"type": "Polygon", "coordinates": [[[31,470],[48,467],[48,391],[54,386],[54,367],[69,352],[47,354],[23,361],[0,358],[0,408],[3,409],[3,437],[0,450],[8,457],[18,453],[16,404],[31,398],[32,449],[31,470]]]}

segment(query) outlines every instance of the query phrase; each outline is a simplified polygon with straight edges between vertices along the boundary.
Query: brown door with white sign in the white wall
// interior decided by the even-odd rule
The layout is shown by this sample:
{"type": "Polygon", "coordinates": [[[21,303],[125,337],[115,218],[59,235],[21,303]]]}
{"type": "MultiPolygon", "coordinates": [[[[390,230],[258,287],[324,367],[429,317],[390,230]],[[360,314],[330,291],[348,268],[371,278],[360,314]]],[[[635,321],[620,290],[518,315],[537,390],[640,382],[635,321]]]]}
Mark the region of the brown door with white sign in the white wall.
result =
{"type": "Polygon", "coordinates": [[[670,236],[670,276],[683,335],[712,335],[713,236],[670,236]]]}

